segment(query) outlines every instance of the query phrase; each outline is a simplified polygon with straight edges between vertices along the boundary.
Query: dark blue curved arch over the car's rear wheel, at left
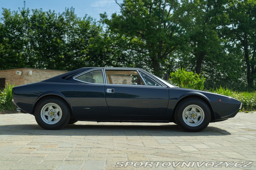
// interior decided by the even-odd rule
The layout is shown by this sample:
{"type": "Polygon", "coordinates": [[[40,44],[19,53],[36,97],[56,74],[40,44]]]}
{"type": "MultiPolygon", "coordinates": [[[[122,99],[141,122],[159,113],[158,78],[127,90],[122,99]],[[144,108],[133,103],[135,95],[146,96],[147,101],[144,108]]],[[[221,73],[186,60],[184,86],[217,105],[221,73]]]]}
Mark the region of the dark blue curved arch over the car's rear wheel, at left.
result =
{"type": "Polygon", "coordinates": [[[55,98],[57,97],[57,98],[61,98],[62,100],[64,100],[64,101],[66,102],[66,104],[68,104],[68,106],[69,106],[71,115],[73,115],[73,109],[72,109],[72,107],[71,107],[69,101],[66,99],[66,97],[65,97],[62,93],[60,93],[60,92],[58,92],[58,91],[47,91],[47,92],[42,93],[42,94],[37,98],[37,100],[34,102],[34,104],[33,104],[33,110],[32,110],[32,114],[33,114],[33,115],[34,115],[34,111],[35,111],[35,109],[36,109],[37,104],[38,104],[40,101],[42,101],[44,98],[47,98],[47,97],[55,97],[55,98]]]}

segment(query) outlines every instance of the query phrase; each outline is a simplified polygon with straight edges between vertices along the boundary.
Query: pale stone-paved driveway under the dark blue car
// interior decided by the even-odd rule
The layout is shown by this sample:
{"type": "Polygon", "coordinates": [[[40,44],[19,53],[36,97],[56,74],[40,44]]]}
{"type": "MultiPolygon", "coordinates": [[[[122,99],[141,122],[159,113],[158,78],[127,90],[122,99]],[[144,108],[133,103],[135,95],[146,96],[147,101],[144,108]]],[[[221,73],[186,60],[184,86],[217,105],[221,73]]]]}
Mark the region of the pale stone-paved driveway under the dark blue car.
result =
{"type": "Polygon", "coordinates": [[[51,131],[41,129],[30,114],[0,115],[0,169],[181,169],[161,164],[115,167],[117,162],[139,161],[251,161],[252,167],[243,169],[255,169],[256,113],[238,113],[197,133],[182,132],[173,123],[82,121],[51,131]]]}

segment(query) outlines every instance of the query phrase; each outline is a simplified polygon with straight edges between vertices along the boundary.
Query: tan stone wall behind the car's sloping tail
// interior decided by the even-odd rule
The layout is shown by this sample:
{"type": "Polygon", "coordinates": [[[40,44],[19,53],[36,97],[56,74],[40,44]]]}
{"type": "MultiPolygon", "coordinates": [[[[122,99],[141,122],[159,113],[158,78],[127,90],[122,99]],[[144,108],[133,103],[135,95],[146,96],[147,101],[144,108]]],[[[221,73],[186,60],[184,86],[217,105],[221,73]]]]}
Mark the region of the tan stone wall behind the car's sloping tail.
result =
{"type": "Polygon", "coordinates": [[[35,83],[43,81],[60,74],[64,74],[66,71],[62,70],[47,70],[47,69],[34,69],[34,68],[18,68],[9,70],[0,70],[0,78],[5,78],[5,83],[15,84],[16,86],[35,83]],[[16,71],[21,71],[21,75],[17,75],[16,71]],[[32,71],[31,75],[28,75],[29,71],[32,71]]]}

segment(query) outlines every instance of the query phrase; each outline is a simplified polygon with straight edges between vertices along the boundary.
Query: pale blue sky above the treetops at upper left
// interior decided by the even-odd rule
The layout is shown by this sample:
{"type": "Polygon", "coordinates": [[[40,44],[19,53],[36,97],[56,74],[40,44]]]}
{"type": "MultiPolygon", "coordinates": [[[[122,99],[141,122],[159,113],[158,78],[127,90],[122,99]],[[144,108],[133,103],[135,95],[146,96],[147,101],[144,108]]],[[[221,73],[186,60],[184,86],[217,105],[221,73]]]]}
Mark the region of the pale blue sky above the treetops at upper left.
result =
{"type": "MultiPolygon", "coordinates": [[[[78,17],[84,17],[86,14],[100,19],[100,13],[107,12],[108,17],[114,12],[119,12],[119,6],[114,0],[25,0],[26,8],[39,9],[43,11],[55,11],[62,13],[65,7],[75,8],[75,14],[78,17]]],[[[122,0],[118,0],[122,2],[122,0]]],[[[118,2],[117,1],[117,2],[118,2]]],[[[10,9],[11,11],[18,11],[18,8],[24,6],[24,0],[0,0],[0,13],[2,8],[10,9]]],[[[1,16],[1,15],[0,15],[1,16]]]]}

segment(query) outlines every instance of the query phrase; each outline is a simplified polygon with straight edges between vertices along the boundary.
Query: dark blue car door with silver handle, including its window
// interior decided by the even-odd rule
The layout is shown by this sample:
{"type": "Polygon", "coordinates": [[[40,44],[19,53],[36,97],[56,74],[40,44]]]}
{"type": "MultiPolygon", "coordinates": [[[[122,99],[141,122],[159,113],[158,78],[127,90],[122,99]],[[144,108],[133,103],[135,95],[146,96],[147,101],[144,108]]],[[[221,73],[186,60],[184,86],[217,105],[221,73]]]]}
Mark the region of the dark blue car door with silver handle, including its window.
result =
{"type": "Polygon", "coordinates": [[[166,114],[167,87],[152,78],[152,85],[146,85],[138,70],[105,69],[105,76],[105,96],[111,115],[166,114]]]}

